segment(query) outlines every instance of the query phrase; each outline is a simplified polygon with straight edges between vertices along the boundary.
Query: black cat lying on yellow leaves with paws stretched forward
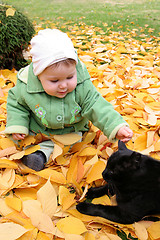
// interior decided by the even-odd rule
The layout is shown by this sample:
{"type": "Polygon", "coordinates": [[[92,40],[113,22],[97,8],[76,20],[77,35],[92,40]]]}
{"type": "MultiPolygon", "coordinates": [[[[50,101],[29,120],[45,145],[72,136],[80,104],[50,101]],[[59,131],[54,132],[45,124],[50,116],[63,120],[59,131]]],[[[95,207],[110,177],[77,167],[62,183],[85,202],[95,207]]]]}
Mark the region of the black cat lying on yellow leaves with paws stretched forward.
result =
{"type": "Polygon", "coordinates": [[[79,212],[131,224],[147,215],[160,213],[160,161],[127,149],[118,142],[102,173],[106,185],[90,188],[87,198],[116,194],[117,206],[79,203],[79,212]]]}

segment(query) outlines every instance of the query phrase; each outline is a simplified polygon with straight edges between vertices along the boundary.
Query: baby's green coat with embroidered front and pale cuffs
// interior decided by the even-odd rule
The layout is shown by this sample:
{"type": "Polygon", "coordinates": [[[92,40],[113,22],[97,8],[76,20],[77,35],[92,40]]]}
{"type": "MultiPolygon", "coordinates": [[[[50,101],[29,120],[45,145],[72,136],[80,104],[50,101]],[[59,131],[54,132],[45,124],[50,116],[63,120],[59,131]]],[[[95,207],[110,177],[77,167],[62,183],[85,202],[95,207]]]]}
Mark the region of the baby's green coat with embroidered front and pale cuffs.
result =
{"type": "Polygon", "coordinates": [[[45,93],[32,63],[18,72],[17,84],[7,99],[6,134],[29,131],[65,134],[88,130],[88,120],[110,141],[120,127],[128,125],[113,106],[98,93],[82,62],[77,66],[77,87],[64,98],[45,93]]]}

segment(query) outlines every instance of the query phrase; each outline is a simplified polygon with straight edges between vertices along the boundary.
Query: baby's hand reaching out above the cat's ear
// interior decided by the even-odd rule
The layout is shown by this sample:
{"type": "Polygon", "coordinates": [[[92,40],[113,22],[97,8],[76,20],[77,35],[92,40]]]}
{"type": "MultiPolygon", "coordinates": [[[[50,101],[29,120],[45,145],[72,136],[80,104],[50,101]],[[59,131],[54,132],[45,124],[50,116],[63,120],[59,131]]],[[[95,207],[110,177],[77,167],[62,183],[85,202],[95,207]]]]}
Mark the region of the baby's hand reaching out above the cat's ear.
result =
{"type": "Polygon", "coordinates": [[[132,138],[132,136],[133,132],[127,126],[121,127],[116,134],[116,138],[121,140],[122,142],[128,142],[132,138]]]}

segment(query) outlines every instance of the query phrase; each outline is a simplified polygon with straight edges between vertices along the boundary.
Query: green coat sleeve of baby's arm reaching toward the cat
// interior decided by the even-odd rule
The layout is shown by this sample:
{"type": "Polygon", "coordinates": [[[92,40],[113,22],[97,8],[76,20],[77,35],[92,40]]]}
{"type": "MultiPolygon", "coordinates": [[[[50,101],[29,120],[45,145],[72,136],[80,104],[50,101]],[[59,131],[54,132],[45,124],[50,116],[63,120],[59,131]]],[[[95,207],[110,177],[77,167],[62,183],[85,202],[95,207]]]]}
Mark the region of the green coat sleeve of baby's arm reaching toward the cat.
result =
{"type": "Polygon", "coordinates": [[[122,126],[128,126],[123,117],[97,91],[90,80],[81,85],[82,116],[90,120],[111,141],[116,140],[116,134],[122,126]]]}

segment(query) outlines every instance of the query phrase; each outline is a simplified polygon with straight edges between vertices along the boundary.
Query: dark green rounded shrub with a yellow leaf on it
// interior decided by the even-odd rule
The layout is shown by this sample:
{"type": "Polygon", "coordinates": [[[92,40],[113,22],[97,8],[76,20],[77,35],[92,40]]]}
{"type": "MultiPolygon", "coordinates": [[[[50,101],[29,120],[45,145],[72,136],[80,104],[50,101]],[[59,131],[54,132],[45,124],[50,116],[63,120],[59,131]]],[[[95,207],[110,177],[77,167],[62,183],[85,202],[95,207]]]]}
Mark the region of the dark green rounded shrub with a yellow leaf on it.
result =
{"type": "Polygon", "coordinates": [[[19,70],[27,65],[22,52],[28,48],[34,33],[26,16],[0,3],[0,69],[19,70]]]}

